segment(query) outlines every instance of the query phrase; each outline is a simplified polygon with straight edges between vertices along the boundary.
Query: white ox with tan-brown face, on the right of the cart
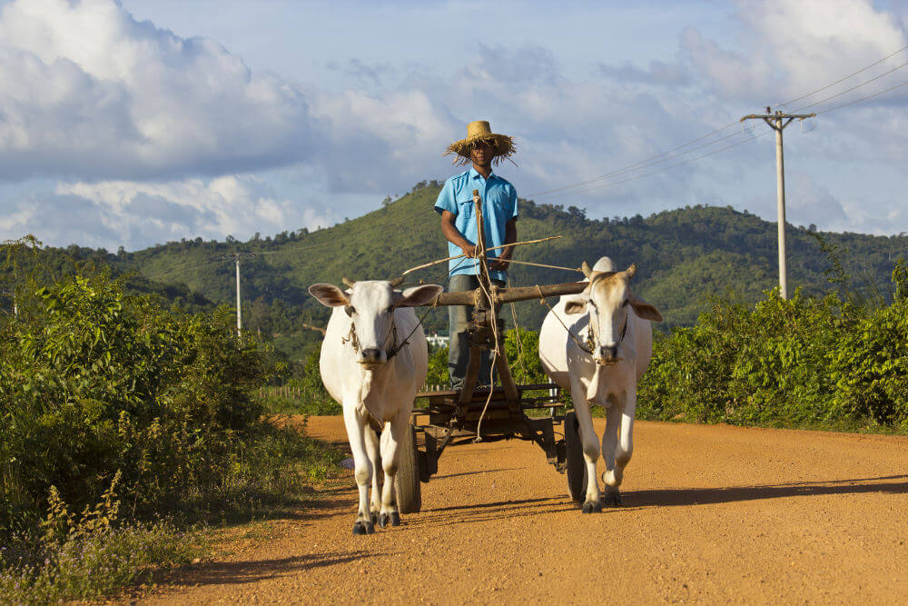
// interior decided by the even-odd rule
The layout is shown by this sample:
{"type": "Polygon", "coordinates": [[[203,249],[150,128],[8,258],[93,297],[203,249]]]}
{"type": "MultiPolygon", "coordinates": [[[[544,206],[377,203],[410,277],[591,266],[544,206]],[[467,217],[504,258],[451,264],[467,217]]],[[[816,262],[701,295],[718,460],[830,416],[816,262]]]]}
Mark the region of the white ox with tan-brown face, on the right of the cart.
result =
{"type": "Polygon", "coordinates": [[[602,480],[606,484],[606,504],[617,506],[621,504],[618,486],[634,450],[637,380],[646,373],[653,354],[650,321],[662,321],[656,307],[631,293],[629,282],[637,272],[637,265],[624,272],[615,270],[615,263],[608,257],[599,259],[592,269],[584,262],[587,289],[561,297],[546,316],[539,333],[543,368],[552,381],[570,390],[574,401],[587,463],[584,513],[602,511],[596,478],[599,443],[590,405],[607,409],[606,431],[602,436],[606,472],[602,480]],[[583,347],[565,327],[577,336],[577,342],[584,343],[583,347]]]}

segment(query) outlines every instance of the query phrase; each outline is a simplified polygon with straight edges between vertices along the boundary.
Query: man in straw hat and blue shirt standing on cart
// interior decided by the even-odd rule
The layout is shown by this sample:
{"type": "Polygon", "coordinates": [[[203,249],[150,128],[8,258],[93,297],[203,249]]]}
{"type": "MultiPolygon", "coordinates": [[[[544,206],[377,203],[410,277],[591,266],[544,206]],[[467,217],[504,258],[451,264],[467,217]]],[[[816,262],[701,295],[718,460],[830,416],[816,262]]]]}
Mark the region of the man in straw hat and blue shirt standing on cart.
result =
{"type": "MultiPolygon", "coordinates": [[[[472,291],[479,288],[479,260],[476,258],[478,242],[476,216],[473,207],[473,190],[482,198],[482,219],[486,247],[492,248],[517,242],[517,190],[508,181],[492,173],[492,164],[514,154],[514,140],[504,134],[494,134],[484,120],[467,125],[467,138],[448,146],[445,155],[456,154],[455,164],[472,164],[469,170],[455,174],[445,182],[435,210],[441,215],[441,233],[448,239],[449,256],[466,254],[466,257],[449,262],[450,293],[472,291]]],[[[508,260],[513,246],[490,250],[487,257],[492,283],[503,286],[508,277],[508,260]]],[[[469,333],[467,323],[473,308],[451,305],[449,308],[448,369],[451,388],[463,386],[469,363],[469,333]]],[[[492,384],[491,355],[482,353],[477,384],[492,384]]]]}

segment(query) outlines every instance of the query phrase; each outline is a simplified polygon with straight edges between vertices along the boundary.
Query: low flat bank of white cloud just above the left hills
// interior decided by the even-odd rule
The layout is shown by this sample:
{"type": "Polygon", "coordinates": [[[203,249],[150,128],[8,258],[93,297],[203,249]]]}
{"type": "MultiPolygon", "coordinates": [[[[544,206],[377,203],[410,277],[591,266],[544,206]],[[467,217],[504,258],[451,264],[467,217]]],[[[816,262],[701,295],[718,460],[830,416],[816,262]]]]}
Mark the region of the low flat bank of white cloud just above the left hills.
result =
{"type": "Polygon", "coordinates": [[[60,183],[18,200],[0,221],[0,233],[35,233],[54,245],[135,249],[198,236],[244,240],[255,232],[312,230],[340,218],[313,201],[281,196],[262,179],[226,175],[168,183],[60,183]]]}

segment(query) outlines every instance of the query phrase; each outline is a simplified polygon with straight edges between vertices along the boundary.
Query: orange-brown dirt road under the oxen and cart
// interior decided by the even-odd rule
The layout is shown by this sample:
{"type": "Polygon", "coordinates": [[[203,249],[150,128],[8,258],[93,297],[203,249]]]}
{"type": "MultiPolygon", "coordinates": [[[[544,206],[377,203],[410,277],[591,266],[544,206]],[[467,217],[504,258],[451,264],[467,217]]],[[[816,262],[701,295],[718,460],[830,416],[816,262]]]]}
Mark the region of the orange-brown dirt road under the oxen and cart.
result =
{"type": "MultiPolygon", "coordinates": [[[[310,429],[345,438],[337,417],[310,429]]],[[[532,443],[464,444],[400,527],[352,535],[350,475],[152,601],[908,599],[908,439],[656,422],[635,433],[620,509],[581,514],[532,443]]]]}

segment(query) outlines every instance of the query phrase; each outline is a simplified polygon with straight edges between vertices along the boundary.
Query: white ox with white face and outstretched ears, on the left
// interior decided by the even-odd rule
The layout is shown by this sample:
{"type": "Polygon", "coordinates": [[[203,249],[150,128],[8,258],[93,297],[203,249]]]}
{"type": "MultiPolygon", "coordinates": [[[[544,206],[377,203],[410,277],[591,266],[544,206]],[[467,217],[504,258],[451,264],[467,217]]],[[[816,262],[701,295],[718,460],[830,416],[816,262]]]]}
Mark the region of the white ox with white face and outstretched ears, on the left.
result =
{"type": "Polygon", "coordinates": [[[325,388],[343,406],[353,452],[360,490],[354,534],[373,532],[375,522],[382,528],[400,525],[394,500],[398,444],[409,431],[413,399],[429,369],[426,336],[412,307],[430,303],[441,290],[428,284],[400,293],[382,281],[352,283],[347,291],[332,284],[309,287],[312,296],[334,308],[319,365],[325,388]],[[370,425],[383,428],[380,442],[370,425]],[[385,472],[380,496],[379,459],[385,472]]]}

